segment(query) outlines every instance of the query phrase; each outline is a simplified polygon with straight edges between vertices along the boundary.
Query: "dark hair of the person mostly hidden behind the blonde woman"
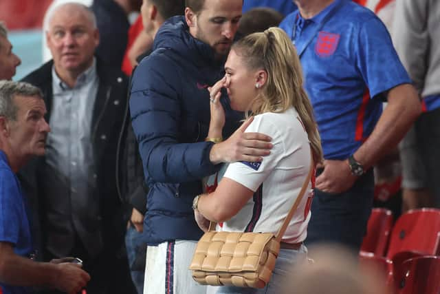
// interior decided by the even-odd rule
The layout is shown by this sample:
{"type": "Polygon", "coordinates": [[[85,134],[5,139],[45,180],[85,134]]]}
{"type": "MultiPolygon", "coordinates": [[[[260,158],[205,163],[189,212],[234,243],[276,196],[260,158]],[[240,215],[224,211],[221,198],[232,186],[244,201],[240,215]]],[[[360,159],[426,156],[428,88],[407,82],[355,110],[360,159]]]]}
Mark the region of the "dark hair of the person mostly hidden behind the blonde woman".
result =
{"type": "Polygon", "coordinates": [[[264,32],[268,28],[277,27],[284,16],[272,8],[252,8],[240,19],[237,34],[240,37],[254,32],[264,32]]]}

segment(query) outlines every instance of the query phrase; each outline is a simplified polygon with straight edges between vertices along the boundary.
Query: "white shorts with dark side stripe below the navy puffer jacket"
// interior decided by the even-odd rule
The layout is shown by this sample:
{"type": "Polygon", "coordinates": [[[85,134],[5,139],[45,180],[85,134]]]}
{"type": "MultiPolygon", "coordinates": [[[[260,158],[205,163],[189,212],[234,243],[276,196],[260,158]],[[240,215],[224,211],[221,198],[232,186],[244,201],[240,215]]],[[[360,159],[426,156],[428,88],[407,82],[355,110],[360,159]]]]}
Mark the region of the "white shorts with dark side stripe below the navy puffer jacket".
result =
{"type": "Polygon", "coordinates": [[[189,270],[197,241],[176,240],[148,246],[144,294],[206,294],[189,270]]]}

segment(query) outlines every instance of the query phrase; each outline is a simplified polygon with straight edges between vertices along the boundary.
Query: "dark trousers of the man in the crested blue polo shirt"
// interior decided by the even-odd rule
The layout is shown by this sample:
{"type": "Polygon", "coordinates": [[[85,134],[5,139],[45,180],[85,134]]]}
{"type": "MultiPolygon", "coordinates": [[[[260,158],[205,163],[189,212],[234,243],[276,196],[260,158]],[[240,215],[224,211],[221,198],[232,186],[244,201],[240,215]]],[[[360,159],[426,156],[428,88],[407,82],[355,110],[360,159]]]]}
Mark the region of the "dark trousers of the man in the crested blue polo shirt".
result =
{"type": "Polygon", "coordinates": [[[373,169],[344,193],[314,192],[306,246],[331,242],[359,251],[373,206],[373,169]]]}

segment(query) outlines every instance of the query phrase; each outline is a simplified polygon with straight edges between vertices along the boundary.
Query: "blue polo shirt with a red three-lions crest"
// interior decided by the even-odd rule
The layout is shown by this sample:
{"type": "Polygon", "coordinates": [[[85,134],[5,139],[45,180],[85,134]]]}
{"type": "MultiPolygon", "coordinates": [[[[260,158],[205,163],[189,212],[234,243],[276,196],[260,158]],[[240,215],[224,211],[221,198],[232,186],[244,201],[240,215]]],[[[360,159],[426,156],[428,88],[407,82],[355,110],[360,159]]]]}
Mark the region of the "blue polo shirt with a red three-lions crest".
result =
{"type": "Polygon", "coordinates": [[[298,10],[280,24],[296,46],[326,159],[345,159],[369,137],[384,92],[410,83],[385,25],[351,0],[311,19],[298,10]]]}

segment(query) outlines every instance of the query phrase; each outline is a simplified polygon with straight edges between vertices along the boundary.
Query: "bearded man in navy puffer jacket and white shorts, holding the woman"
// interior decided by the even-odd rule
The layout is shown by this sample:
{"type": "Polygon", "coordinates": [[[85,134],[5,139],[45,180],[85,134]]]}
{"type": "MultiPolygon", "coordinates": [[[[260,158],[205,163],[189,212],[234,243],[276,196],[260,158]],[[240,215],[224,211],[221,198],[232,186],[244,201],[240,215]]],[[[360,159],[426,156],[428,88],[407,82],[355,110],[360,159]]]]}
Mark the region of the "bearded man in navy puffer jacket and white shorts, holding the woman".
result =
{"type": "Polygon", "coordinates": [[[205,293],[188,270],[203,233],[192,211],[193,198],[202,192],[201,178],[217,171],[220,162],[261,160],[271,148],[263,134],[244,134],[243,127],[234,132],[243,114],[230,109],[225,95],[223,137],[229,138],[215,145],[205,141],[210,123],[207,88],[224,75],[242,4],[187,0],[185,16],[162,25],[153,53],[133,74],[131,118],[149,188],[144,293],[205,293]]]}

